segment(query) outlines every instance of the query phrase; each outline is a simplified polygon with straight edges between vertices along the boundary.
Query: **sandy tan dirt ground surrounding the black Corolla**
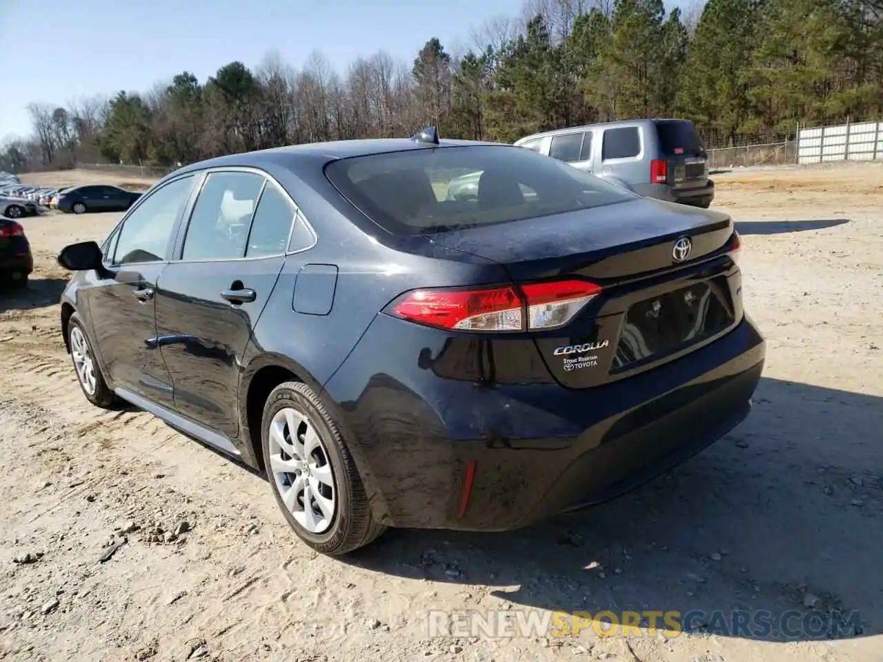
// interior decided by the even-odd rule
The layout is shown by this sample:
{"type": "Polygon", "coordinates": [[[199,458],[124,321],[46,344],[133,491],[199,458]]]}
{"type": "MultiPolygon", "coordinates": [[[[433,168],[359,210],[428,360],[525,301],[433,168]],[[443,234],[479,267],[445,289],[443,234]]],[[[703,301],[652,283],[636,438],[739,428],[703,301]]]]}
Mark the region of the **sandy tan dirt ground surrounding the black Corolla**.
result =
{"type": "Polygon", "coordinates": [[[716,180],[769,342],[751,417],[604,506],[503,534],[389,531],[342,560],[298,544],[262,478],[147,414],[87,404],[54,256],[117,214],[27,219],[33,282],[0,295],[0,658],[883,660],[883,165],[716,180]],[[713,618],[797,610],[793,627],[811,608],[856,611],[860,628],[786,641],[713,618]],[[679,636],[427,625],[430,610],[631,609],[707,618],[679,636]]]}

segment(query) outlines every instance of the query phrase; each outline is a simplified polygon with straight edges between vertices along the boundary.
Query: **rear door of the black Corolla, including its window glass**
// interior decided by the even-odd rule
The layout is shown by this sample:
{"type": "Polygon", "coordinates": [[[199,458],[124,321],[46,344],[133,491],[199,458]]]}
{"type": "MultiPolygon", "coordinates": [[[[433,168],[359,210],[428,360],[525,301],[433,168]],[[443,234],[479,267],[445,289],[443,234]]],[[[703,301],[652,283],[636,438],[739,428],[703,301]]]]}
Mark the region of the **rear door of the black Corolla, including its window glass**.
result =
{"type": "Polygon", "coordinates": [[[157,342],[184,416],[238,435],[245,347],[285,261],[294,206],[260,171],[208,171],[157,283],[157,342]]]}

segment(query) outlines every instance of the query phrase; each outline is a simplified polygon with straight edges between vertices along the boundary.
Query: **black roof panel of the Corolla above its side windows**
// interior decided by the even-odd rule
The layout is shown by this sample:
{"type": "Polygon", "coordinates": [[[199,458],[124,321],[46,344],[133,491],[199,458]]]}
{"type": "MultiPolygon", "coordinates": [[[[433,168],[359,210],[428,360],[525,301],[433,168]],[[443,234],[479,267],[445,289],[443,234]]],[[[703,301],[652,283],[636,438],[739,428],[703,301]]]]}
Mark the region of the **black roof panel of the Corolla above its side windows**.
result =
{"type": "Polygon", "coordinates": [[[438,145],[418,142],[407,138],[388,139],[358,139],[358,140],[333,140],[330,142],[313,142],[288,147],[273,147],[256,152],[244,152],[242,154],[229,154],[218,156],[207,161],[192,163],[175,170],[167,177],[177,177],[186,172],[193,172],[208,168],[223,167],[254,167],[260,169],[272,169],[274,166],[290,169],[297,173],[298,169],[322,168],[326,163],[338,159],[347,159],[354,156],[368,156],[371,154],[391,154],[394,152],[407,152],[430,147],[511,147],[506,143],[485,142],[480,140],[440,140],[438,145]]]}

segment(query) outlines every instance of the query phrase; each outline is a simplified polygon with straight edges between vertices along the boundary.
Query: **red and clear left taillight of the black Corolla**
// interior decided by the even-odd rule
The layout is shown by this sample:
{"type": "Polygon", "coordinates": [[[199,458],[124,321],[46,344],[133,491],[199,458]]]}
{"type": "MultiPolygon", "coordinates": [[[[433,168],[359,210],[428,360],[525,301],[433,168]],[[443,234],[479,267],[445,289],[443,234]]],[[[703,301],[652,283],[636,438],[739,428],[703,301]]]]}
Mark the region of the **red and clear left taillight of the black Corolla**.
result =
{"type": "Polygon", "coordinates": [[[567,324],[601,291],[583,281],[537,282],[464,290],[439,288],[406,292],[391,314],[429,327],[460,331],[525,331],[567,324]]]}

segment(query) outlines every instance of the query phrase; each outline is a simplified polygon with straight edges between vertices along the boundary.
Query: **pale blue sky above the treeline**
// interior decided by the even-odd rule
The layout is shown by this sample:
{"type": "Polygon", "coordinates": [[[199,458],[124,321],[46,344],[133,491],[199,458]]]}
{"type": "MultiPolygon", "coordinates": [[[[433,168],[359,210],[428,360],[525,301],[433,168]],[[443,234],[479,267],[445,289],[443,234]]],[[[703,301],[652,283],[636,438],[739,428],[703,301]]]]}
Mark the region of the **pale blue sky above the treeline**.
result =
{"type": "Polygon", "coordinates": [[[313,50],[343,73],[383,49],[413,62],[426,40],[472,46],[470,28],[516,17],[522,0],[0,0],[0,141],[29,135],[30,102],[145,92],[191,71],[200,82],[270,51],[300,67],[313,50]]]}

